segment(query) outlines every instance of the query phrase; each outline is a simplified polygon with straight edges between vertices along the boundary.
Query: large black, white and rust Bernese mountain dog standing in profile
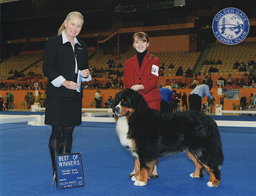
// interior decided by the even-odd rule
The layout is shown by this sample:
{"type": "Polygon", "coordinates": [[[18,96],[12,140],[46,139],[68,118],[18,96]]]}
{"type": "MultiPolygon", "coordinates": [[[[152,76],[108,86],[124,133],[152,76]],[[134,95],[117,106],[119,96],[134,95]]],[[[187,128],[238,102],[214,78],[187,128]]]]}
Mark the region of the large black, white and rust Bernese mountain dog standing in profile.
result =
{"type": "Polygon", "coordinates": [[[135,157],[134,185],[147,184],[158,157],[186,151],[196,170],[193,178],[210,175],[207,186],[218,186],[223,162],[218,126],[197,111],[162,113],[150,109],[143,96],[132,89],[118,92],[113,104],[116,133],[135,157]]]}

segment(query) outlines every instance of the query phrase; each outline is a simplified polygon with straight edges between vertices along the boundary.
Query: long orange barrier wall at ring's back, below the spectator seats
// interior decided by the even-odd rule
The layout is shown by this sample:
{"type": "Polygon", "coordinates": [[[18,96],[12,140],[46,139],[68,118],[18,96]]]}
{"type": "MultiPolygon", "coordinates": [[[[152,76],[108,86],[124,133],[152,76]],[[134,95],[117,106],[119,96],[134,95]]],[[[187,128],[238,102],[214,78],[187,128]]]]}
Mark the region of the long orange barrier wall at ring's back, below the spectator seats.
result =
{"type": "MultiPolygon", "coordinates": [[[[251,93],[256,93],[255,88],[238,88],[239,89],[239,100],[224,100],[224,110],[232,110],[233,105],[232,103],[235,103],[235,105],[240,104],[240,99],[245,94],[247,98],[247,102],[249,102],[249,97],[251,93]]],[[[102,101],[101,104],[105,106],[105,102],[109,99],[109,96],[112,96],[112,98],[115,98],[115,94],[121,91],[122,89],[100,89],[101,95],[102,95],[102,101]]],[[[186,92],[187,96],[189,93],[192,91],[192,89],[176,89],[177,93],[181,92],[186,92]]],[[[0,94],[5,97],[6,93],[8,91],[0,91],[0,94]]],[[[11,91],[14,95],[14,108],[19,108],[19,103],[20,101],[24,101],[25,95],[29,92],[32,92],[35,95],[35,91],[27,91],[27,90],[21,90],[21,91],[11,91]]],[[[43,90],[40,90],[38,92],[44,93],[43,90]]],[[[83,97],[83,108],[89,108],[90,107],[90,102],[94,101],[95,93],[97,92],[97,89],[92,89],[92,90],[84,90],[84,97],[83,97]]],[[[215,104],[218,103],[218,90],[217,88],[212,88],[211,89],[212,95],[214,96],[216,102],[215,104]]],[[[203,103],[207,102],[207,97],[204,97],[203,103]]],[[[215,111],[215,107],[213,107],[213,111],[215,111]]]]}

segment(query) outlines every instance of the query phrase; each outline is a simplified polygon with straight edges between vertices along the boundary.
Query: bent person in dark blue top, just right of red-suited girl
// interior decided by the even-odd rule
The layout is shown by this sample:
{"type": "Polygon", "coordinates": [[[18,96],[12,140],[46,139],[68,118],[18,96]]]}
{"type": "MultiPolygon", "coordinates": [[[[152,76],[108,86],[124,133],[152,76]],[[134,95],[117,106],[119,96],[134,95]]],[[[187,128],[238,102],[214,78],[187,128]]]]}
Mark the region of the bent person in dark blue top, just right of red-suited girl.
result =
{"type": "Polygon", "coordinates": [[[159,89],[159,93],[162,96],[161,105],[160,105],[160,107],[161,107],[160,111],[167,113],[168,112],[168,108],[169,108],[169,104],[172,101],[172,94],[173,94],[173,92],[171,90],[171,87],[170,86],[162,87],[162,88],[159,89]]]}

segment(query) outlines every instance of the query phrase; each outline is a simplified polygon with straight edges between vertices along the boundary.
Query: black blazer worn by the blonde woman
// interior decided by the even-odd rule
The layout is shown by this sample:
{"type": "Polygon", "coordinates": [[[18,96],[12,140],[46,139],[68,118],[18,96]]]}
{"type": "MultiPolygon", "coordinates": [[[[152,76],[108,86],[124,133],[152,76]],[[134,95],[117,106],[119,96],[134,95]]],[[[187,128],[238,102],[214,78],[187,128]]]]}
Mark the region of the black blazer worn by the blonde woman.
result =
{"type": "MultiPolygon", "coordinates": [[[[81,45],[75,44],[74,52],[70,42],[62,43],[62,35],[49,38],[45,45],[43,62],[43,73],[49,79],[45,94],[74,97],[75,90],[68,89],[65,86],[55,87],[51,81],[63,76],[66,80],[76,83],[75,55],[78,70],[89,69],[87,46],[82,40],[78,40],[78,42],[81,45]]],[[[80,96],[83,96],[83,91],[81,91],[80,96]]]]}

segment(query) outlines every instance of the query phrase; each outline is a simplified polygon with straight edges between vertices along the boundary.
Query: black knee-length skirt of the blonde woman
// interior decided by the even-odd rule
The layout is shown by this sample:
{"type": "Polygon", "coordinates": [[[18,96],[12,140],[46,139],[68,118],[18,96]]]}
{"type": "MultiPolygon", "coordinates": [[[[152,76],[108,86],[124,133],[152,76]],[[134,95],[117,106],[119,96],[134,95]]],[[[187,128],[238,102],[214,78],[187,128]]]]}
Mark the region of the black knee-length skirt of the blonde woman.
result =
{"type": "Polygon", "coordinates": [[[82,123],[82,97],[57,97],[47,95],[45,125],[74,127],[82,123]]]}

